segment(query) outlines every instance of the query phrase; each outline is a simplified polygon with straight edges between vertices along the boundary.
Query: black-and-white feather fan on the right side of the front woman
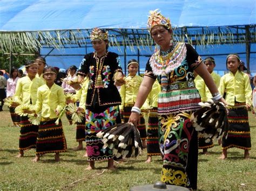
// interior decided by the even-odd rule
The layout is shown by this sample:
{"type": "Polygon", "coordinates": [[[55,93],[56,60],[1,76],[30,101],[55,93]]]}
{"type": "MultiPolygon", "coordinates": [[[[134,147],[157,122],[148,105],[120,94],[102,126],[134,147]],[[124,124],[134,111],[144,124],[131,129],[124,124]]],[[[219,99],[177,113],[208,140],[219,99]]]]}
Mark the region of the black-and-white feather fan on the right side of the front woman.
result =
{"type": "Polygon", "coordinates": [[[226,136],[228,119],[224,103],[211,100],[200,102],[199,105],[202,108],[191,116],[193,127],[198,131],[199,136],[203,136],[206,143],[215,142],[226,136]]]}

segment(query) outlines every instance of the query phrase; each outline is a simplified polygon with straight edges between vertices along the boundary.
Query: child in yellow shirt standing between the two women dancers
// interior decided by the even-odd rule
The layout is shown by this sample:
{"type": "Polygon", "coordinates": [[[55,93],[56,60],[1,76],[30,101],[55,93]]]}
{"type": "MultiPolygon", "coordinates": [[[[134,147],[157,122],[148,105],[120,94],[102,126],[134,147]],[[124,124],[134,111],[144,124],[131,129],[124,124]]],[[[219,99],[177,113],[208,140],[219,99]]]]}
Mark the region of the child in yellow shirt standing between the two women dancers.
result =
{"type": "MultiPolygon", "coordinates": [[[[122,104],[120,105],[120,110],[123,110],[124,122],[129,121],[129,117],[131,115],[131,109],[136,102],[137,94],[139,91],[140,83],[142,83],[142,77],[136,75],[139,68],[139,63],[135,59],[131,59],[128,62],[128,72],[129,75],[125,77],[125,84],[120,88],[120,96],[122,98],[122,104]]],[[[144,103],[142,109],[149,109],[148,102],[144,103]]],[[[143,142],[143,147],[146,148],[146,125],[145,119],[142,114],[140,114],[140,124],[137,125],[137,128],[140,133],[140,138],[143,142]]]]}

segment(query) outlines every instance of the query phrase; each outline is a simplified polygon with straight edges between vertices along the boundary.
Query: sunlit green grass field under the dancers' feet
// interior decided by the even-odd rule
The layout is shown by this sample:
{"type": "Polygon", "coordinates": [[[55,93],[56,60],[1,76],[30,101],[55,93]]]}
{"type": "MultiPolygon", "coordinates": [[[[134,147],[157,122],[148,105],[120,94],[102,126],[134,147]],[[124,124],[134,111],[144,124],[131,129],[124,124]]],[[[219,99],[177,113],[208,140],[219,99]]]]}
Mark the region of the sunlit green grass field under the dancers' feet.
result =
{"type": "MultiPolygon", "coordinates": [[[[117,164],[116,171],[106,169],[106,161],[96,161],[96,169],[86,171],[84,151],[72,151],[77,146],[75,126],[68,125],[63,117],[68,152],[60,154],[55,162],[54,154],[45,154],[35,163],[35,150],[18,154],[19,128],[13,127],[10,114],[0,112],[0,190],[129,190],[137,185],[148,185],[160,179],[162,162],[160,156],[145,164],[146,151],[137,159],[117,164]]],[[[252,150],[251,158],[243,159],[244,151],[228,150],[228,158],[220,160],[221,147],[211,148],[210,155],[199,153],[199,190],[256,190],[256,120],[250,114],[252,150]]]]}

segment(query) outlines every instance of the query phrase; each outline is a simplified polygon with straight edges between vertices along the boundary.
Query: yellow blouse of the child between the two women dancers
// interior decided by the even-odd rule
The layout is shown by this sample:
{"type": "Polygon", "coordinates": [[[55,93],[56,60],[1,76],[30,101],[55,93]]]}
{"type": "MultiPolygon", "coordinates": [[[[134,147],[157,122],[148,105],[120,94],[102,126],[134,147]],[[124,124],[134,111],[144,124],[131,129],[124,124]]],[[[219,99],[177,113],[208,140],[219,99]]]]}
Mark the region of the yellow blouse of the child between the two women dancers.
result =
{"type": "MultiPolygon", "coordinates": [[[[122,98],[122,103],[119,108],[122,110],[125,104],[134,105],[137,99],[137,94],[139,91],[139,86],[142,83],[143,77],[139,75],[125,77],[125,84],[120,88],[120,96],[122,98]]],[[[141,109],[149,109],[149,99],[145,101],[141,109]]]]}

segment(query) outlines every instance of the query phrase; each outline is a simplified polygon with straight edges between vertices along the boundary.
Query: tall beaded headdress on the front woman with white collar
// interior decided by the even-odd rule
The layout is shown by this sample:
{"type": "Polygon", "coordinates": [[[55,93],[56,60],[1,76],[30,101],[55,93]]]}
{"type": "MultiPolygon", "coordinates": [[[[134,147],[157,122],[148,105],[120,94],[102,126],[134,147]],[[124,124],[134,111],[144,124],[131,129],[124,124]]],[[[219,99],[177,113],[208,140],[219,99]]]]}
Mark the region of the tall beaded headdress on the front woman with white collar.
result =
{"type": "Polygon", "coordinates": [[[147,20],[147,29],[149,29],[149,32],[151,33],[151,30],[156,25],[163,25],[167,27],[167,29],[171,29],[172,25],[169,18],[164,17],[161,15],[159,9],[156,9],[154,11],[150,11],[149,19],[147,20]]]}

